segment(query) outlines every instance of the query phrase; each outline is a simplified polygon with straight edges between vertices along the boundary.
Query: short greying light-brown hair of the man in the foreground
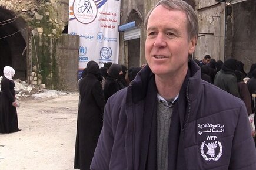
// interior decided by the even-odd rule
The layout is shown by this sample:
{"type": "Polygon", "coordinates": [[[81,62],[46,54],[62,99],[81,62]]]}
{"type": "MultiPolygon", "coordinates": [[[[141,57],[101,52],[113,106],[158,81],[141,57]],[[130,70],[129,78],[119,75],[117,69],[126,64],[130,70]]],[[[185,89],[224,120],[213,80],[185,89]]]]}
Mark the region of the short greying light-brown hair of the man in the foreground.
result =
{"type": "MultiPolygon", "coordinates": [[[[179,10],[186,14],[187,16],[187,30],[188,30],[188,38],[191,39],[193,37],[198,36],[198,19],[197,15],[195,14],[194,9],[192,6],[187,4],[187,2],[182,0],[161,0],[155,6],[148,12],[145,21],[144,26],[147,29],[148,25],[148,18],[151,15],[152,11],[159,5],[164,6],[167,9],[171,10],[179,10]]],[[[160,18],[159,18],[160,19],[160,18]]]]}

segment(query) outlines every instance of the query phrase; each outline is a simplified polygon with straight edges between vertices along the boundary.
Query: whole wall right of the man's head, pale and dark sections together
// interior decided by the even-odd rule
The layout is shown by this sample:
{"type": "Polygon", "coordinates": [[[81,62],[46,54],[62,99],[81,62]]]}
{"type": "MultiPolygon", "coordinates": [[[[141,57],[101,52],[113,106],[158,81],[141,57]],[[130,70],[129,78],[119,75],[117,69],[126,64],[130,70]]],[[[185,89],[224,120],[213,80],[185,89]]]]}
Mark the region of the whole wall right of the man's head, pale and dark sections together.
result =
{"type": "Polygon", "coordinates": [[[248,72],[256,63],[256,1],[244,1],[226,6],[214,0],[197,0],[200,32],[214,35],[200,35],[195,58],[202,59],[209,54],[216,60],[234,57],[244,63],[248,72]]]}

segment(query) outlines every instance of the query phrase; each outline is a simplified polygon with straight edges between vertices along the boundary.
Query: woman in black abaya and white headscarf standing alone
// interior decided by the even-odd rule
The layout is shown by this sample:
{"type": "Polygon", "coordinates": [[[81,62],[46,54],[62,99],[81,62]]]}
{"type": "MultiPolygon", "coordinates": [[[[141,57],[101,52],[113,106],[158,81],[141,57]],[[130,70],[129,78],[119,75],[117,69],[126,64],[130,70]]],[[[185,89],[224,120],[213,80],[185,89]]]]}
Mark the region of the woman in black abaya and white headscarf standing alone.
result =
{"type": "Polygon", "coordinates": [[[0,133],[3,134],[20,131],[15,101],[15,83],[12,80],[14,74],[15,70],[12,67],[4,67],[0,96],[0,133]]]}

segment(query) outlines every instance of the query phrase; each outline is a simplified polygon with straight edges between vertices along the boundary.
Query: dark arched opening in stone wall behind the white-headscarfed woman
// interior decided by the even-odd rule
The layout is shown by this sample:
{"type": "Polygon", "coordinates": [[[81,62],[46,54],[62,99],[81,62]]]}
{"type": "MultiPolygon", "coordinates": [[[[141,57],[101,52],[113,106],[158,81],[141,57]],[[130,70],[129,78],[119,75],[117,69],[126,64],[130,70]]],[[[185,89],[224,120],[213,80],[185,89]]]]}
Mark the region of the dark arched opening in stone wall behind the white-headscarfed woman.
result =
{"type": "Polygon", "coordinates": [[[0,76],[5,66],[15,70],[15,79],[25,81],[27,76],[26,44],[28,26],[14,12],[0,8],[0,76]]]}

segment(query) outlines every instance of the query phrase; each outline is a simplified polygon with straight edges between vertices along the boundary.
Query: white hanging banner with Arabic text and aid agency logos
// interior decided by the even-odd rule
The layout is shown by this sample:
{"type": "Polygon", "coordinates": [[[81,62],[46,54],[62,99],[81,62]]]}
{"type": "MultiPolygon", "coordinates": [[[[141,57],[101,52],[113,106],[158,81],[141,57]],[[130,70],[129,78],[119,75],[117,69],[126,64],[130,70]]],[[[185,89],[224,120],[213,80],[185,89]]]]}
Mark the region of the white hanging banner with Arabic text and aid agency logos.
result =
{"type": "Polygon", "coordinates": [[[69,0],[68,33],[80,36],[78,74],[90,60],[118,63],[119,22],[119,0],[69,0]]]}

